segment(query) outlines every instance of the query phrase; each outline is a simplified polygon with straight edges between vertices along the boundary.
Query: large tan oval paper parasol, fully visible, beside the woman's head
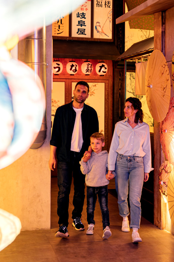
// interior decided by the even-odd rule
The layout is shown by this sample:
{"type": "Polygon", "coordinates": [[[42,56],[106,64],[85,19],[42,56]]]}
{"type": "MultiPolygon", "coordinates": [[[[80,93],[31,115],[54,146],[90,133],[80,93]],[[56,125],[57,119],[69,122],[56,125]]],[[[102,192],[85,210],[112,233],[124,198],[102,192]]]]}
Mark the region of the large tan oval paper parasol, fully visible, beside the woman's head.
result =
{"type": "Polygon", "coordinates": [[[168,111],[171,85],[166,59],[159,50],[154,50],[148,59],[145,84],[149,111],[161,122],[168,111]]]}

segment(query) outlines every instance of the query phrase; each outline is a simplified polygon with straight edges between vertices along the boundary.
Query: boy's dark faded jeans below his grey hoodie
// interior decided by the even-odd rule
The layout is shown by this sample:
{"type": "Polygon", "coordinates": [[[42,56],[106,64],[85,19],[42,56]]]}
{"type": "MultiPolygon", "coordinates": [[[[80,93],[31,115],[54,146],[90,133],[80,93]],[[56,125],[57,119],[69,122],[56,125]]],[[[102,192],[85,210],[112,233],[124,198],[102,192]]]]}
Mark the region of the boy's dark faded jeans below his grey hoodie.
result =
{"type": "Polygon", "coordinates": [[[100,210],[102,211],[102,223],[104,229],[106,226],[110,226],[108,210],[108,185],[102,187],[87,186],[87,221],[88,224],[95,224],[94,210],[97,201],[97,194],[100,210]]]}

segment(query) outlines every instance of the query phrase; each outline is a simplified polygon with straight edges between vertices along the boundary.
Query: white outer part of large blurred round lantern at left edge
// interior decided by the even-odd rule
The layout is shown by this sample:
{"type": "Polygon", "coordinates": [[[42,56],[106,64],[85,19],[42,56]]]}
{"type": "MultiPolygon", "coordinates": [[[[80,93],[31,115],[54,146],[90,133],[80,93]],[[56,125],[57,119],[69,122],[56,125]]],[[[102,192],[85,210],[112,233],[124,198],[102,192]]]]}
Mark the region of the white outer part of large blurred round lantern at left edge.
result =
{"type": "MultiPolygon", "coordinates": [[[[1,54],[2,51],[0,49],[0,57],[6,58],[8,54],[1,54]]],[[[41,79],[25,63],[11,59],[9,54],[9,59],[0,60],[0,71],[12,95],[14,117],[12,141],[0,157],[2,169],[21,157],[35,141],[45,114],[46,100],[41,79]]],[[[0,84],[1,91],[2,88],[0,84]]],[[[6,132],[9,132],[8,127],[6,132]]],[[[0,129],[1,139],[3,136],[4,131],[0,129]]]]}

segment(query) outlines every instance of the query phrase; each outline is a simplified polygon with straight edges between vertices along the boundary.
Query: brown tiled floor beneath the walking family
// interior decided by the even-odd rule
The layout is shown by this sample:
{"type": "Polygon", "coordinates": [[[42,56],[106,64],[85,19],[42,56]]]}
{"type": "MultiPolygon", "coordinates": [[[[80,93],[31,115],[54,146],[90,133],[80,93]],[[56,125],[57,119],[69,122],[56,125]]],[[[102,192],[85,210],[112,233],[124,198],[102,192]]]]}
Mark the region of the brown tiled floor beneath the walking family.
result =
{"type": "MultiPolygon", "coordinates": [[[[114,181],[109,188],[114,188],[114,181]]],[[[70,194],[69,213],[73,210],[73,186],[70,194]]],[[[55,238],[57,231],[57,181],[52,178],[51,229],[22,231],[14,242],[0,252],[1,262],[71,262],[71,261],[112,261],[112,262],[173,262],[174,236],[160,230],[142,217],[139,234],[142,243],[132,243],[131,232],[122,232],[122,218],[119,216],[117,199],[109,194],[110,228],[112,236],[102,239],[102,217],[99,204],[95,210],[94,235],[76,231],[69,219],[69,237],[55,238]]],[[[71,217],[71,216],[70,216],[71,217]]],[[[86,200],[82,221],[87,228],[86,200]]]]}

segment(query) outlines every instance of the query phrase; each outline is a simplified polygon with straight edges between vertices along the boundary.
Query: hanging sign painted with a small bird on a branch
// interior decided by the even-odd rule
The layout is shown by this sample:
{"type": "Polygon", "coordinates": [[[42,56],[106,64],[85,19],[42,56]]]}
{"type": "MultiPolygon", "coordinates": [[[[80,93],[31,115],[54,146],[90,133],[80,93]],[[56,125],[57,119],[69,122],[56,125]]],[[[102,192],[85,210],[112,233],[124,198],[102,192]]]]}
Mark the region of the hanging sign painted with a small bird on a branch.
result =
{"type": "Polygon", "coordinates": [[[94,0],[93,38],[112,39],[112,6],[112,0],[94,0]]]}

